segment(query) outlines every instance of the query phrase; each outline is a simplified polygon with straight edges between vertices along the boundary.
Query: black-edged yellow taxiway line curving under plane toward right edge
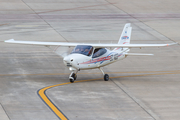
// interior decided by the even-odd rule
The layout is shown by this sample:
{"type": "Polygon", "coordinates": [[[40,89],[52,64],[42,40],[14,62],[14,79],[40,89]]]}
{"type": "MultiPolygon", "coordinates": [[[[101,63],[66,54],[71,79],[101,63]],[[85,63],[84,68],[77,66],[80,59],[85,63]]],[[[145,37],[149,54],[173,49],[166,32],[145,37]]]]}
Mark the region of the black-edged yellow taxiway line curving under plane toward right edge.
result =
{"type": "MultiPolygon", "coordinates": [[[[142,72],[140,72],[142,73],[142,72]]],[[[146,73],[146,72],[145,72],[146,73]]],[[[164,73],[159,73],[159,71],[157,71],[157,73],[153,72],[153,74],[142,74],[142,75],[128,75],[128,76],[117,76],[117,77],[110,77],[110,79],[112,78],[124,78],[124,77],[140,77],[140,76],[152,76],[152,75],[168,75],[168,74],[180,74],[180,71],[164,71],[164,73]]],[[[80,80],[80,81],[75,81],[75,83],[78,82],[86,82],[86,81],[93,81],[93,80],[100,80],[103,78],[98,78],[98,79],[88,79],[88,80],[80,80]]],[[[48,96],[46,95],[46,90],[53,88],[53,87],[57,87],[57,86],[62,86],[62,85],[67,85],[67,84],[71,84],[70,82],[67,83],[62,83],[62,84],[57,84],[57,85],[52,85],[52,86],[48,86],[45,88],[42,88],[38,91],[38,95],[41,97],[41,99],[46,103],[46,105],[56,114],[56,116],[58,118],[60,118],[61,120],[68,120],[68,118],[58,109],[58,107],[56,107],[56,105],[53,104],[53,102],[48,98],[48,96]]]]}

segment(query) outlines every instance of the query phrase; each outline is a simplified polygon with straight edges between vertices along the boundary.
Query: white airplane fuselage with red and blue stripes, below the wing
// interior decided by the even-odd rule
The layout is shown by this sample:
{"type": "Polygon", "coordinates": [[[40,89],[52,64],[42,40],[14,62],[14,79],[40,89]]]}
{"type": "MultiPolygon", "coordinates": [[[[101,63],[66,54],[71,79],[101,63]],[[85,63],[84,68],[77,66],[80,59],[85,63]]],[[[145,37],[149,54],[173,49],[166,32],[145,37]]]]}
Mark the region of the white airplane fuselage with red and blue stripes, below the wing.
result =
{"type": "MultiPolygon", "coordinates": [[[[63,60],[64,64],[76,70],[86,70],[94,69],[106,66],[117,60],[124,59],[125,53],[129,51],[128,48],[115,48],[114,50],[109,50],[107,48],[98,48],[103,49],[104,53],[100,56],[95,56],[95,48],[92,51],[92,54],[87,56],[79,53],[72,53],[66,56],[63,60]]],[[[70,69],[71,70],[71,69],[70,69]]]]}

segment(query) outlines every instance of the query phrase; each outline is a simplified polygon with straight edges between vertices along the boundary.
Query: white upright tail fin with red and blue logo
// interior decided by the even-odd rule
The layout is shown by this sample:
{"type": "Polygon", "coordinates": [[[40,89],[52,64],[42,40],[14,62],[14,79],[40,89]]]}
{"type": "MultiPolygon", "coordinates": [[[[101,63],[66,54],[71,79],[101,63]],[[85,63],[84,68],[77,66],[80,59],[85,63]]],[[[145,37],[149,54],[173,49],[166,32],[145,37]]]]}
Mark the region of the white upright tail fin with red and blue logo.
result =
{"type": "Polygon", "coordinates": [[[124,26],[121,37],[119,38],[118,44],[129,44],[131,39],[131,23],[127,23],[124,26]]]}

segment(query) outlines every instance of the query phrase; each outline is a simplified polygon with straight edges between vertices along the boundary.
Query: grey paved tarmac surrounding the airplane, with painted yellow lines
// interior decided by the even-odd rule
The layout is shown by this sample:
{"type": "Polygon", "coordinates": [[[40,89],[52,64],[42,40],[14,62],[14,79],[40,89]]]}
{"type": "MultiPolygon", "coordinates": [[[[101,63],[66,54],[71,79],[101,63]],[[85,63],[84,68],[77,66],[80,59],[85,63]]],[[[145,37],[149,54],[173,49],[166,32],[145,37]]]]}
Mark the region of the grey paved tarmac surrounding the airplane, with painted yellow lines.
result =
{"type": "MultiPolygon", "coordinates": [[[[4,40],[117,43],[131,23],[131,43],[180,42],[180,1],[1,0],[0,120],[179,120],[180,47],[132,48],[103,68],[70,71],[45,46],[4,40]]],[[[72,49],[72,48],[70,48],[72,49]]]]}

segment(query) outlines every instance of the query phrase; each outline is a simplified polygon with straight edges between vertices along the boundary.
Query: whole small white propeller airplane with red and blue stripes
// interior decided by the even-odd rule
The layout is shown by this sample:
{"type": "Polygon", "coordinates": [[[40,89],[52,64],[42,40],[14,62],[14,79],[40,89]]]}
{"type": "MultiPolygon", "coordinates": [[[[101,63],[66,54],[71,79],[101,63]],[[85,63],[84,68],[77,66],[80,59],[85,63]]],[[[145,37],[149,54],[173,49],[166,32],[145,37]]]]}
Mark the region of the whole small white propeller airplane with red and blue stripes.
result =
{"type": "Polygon", "coordinates": [[[130,48],[142,47],[163,47],[174,45],[171,44],[130,44],[131,24],[127,23],[124,26],[119,42],[117,44],[84,44],[84,43],[69,43],[69,42],[37,42],[37,41],[15,41],[14,39],[6,40],[6,43],[44,45],[44,46],[66,46],[75,47],[73,51],[64,56],[63,62],[71,71],[69,80],[73,83],[77,78],[77,73],[80,70],[99,68],[104,75],[104,80],[109,80],[109,75],[102,70],[103,66],[114,63],[118,60],[126,58],[128,55],[153,55],[128,53],[130,48]],[[106,47],[114,48],[109,50],[106,47]]]}

